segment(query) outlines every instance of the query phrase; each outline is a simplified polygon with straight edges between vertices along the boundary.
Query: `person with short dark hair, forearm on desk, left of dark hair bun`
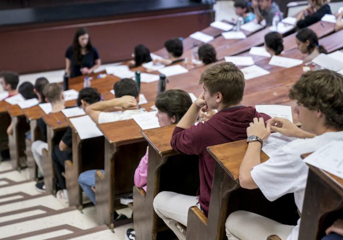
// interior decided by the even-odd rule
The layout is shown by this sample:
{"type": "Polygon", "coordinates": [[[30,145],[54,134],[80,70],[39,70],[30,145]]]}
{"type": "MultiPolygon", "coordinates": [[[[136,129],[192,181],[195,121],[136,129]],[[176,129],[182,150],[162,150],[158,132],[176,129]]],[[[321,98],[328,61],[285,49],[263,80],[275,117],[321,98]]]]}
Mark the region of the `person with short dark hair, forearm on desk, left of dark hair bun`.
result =
{"type": "Polygon", "coordinates": [[[181,58],[184,46],[180,38],[172,38],[165,41],[164,47],[167,49],[169,59],[156,59],[154,60],[155,63],[170,65],[184,60],[181,58]]]}

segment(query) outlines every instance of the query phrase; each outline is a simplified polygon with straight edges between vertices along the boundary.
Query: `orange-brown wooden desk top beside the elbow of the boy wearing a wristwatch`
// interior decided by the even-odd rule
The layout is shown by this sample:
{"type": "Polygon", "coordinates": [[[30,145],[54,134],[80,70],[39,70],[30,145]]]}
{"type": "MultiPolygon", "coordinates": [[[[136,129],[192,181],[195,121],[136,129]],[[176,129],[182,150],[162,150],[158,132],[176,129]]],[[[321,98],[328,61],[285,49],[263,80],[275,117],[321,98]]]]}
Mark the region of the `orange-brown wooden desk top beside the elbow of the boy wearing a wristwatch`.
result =
{"type": "MultiPolygon", "coordinates": [[[[231,143],[224,143],[207,147],[212,157],[235,181],[239,177],[239,167],[247,151],[247,140],[240,140],[231,143]]],[[[261,151],[261,162],[267,161],[269,157],[261,151]]]]}

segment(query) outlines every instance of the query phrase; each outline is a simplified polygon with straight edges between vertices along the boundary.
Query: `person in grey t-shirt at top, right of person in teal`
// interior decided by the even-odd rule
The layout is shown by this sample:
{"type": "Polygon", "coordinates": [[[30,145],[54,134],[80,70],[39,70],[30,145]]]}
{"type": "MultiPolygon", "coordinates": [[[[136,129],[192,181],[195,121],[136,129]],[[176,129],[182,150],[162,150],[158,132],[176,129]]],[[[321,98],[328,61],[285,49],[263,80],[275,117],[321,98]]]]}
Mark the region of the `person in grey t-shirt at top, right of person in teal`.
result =
{"type": "Polygon", "coordinates": [[[280,19],[282,19],[279,6],[272,0],[252,0],[252,8],[257,17],[257,20],[261,22],[265,19],[267,26],[273,24],[273,17],[275,13],[279,13],[280,19]]]}

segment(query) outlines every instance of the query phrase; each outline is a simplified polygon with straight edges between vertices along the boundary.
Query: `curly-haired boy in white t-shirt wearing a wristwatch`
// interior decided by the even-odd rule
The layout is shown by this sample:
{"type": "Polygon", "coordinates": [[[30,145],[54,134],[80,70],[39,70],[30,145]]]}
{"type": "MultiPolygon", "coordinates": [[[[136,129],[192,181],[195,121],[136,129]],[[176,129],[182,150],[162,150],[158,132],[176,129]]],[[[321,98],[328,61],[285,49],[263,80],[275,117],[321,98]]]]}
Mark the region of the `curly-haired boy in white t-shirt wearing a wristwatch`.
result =
{"type": "MultiPolygon", "coordinates": [[[[251,142],[239,169],[239,183],[242,188],[259,188],[269,201],[294,193],[301,212],[308,167],[300,155],[314,152],[330,141],[343,140],[343,76],[330,70],[307,72],[291,88],[289,98],[297,101],[294,112],[298,114],[301,129],[286,119],[273,118],[265,126],[263,119],[255,118],[247,128],[251,142]],[[271,131],[298,139],[261,163],[261,143],[271,131]]],[[[225,225],[228,240],[251,239],[252,235],[256,240],[265,240],[270,235],[296,240],[300,219],[297,226],[289,226],[254,213],[236,211],[225,225]]]]}

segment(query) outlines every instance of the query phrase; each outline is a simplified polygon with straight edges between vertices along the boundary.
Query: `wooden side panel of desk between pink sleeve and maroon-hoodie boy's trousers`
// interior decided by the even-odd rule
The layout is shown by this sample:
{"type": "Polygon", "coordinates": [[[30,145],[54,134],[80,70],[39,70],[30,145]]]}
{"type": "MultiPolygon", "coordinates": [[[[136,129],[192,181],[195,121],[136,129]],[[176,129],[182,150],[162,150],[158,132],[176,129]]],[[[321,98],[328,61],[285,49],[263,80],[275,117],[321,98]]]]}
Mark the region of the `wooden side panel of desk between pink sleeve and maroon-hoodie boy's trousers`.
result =
{"type": "Polygon", "coordinates": [[[153,201],[159,192],[159,173],[167,157],[161,157],[149,146],[149,164],[146,194],[143,196],[137,189],[133,190],[133,225],[137,240],[156,240],[157,215],[153,201]]]}

